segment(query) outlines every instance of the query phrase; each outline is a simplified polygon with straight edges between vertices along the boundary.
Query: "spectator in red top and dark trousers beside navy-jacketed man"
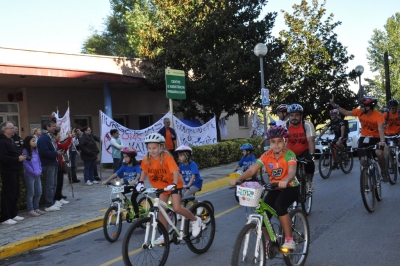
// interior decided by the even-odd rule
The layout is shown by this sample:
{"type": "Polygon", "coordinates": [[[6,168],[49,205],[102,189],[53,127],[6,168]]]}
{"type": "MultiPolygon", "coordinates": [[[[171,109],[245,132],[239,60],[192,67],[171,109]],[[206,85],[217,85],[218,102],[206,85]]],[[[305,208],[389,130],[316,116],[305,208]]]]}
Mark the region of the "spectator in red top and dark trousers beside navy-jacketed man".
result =
{"type": "MultiPolygon", "coordinates": [[[[71,145],[72,141],[72,135],[68,131],[68,138],[65,141],[60,142],[61,140],[61,132],[57,131],[55,132],[55,139],[56,139],[56,144],[57,148],[62,150],[65,154],[65,151],[68,150],[69,146],[71,145]]],[[[56,187],[56,193],[54,194],[54,201],[58,206],[62,206],[63,204],[68,204],[69,201],[64,200],[64,197],[62,195],[62,187],[64,185],[64,171],[63,171],[63,156],[59,155],[58,156],[58,171],[57,171],[57,187],[56,187]]],[[[66,197],[65,197],[66,198],[66,197]]]]}

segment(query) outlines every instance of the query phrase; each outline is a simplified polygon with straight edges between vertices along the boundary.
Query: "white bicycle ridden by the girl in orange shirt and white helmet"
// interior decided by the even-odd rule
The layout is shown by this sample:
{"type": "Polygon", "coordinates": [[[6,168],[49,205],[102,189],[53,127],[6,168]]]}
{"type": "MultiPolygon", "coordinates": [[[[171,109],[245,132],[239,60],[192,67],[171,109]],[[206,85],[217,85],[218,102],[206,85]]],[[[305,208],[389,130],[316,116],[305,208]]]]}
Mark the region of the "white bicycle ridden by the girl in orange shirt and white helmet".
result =
{"type": "Polygon", "coordinates": [[[147,188],[144,191],[146,197],[149,193],[156,194],[154,207],[147,217],[133,223],[126,233],[122,245],[125,265],[164,265],[168,259],[171,242],[178,245],[181,241],[185,241],[189,249],[197,254],[204,253],[211,247],[215,235],[215,218],[210,205],[198,202],[190,208],[193,215],[200,217],[202,221],[200,234],[193,237],[189,226],[190,221],[186,217],[182,217],[180,229],[169,219],[167,210],[173,210],[160,200],[159,196],[162,192],[164,189],[156,188],[147,188]],[[199,208],[202,208],[202,212],[197,214],[199,208]],[[160,212],[171,226],[170,230],[167,230],[168,228],[159,222],[160,212]],[[164,237],[165,241],[163,244],[157,245],[155,240],[160,235],[164,237]]]}

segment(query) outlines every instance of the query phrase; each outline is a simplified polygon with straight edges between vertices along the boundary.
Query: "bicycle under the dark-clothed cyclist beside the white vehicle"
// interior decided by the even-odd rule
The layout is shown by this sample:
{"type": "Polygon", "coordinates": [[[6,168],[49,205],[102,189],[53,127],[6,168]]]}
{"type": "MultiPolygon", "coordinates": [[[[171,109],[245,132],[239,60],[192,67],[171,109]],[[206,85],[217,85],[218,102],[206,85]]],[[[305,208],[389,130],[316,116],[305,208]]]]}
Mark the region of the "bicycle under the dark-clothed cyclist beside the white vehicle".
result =
{"type": "Polygon", "coordinates": [[[351,147],[345,147],[343,152],[337,147],[332,139],[320,139],[325,146],[319,158],[319,174],[323,179],[329,178],[332,170],[342,169],[343,173],[348,174],[353,169],[353,151],[351,147]]]}

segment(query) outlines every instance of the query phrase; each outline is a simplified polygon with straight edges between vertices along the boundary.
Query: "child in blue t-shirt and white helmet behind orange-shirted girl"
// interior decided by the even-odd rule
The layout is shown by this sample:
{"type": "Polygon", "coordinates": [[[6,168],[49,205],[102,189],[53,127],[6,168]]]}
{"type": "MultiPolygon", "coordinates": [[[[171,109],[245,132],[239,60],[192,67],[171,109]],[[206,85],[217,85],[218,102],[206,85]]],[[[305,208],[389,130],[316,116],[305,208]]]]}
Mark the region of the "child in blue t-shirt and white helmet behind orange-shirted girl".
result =
{"type": "Polygon", "coordinates": [[[176,150],[179,158],[179,172],[184,181],[183,198],[194,195],[201,190],[203,179],[200,177],[199,167],[192,161],[192,149],[181,145],[176,150]]]}

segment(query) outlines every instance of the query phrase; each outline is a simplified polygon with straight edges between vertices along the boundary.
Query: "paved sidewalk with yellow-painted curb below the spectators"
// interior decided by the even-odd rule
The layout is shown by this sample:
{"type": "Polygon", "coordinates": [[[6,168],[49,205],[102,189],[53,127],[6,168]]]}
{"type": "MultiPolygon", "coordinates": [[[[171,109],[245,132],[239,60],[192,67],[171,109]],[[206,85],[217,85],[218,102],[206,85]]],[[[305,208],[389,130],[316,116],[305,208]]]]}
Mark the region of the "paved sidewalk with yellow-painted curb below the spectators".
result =
{"type": "MultiPolygon", "coordinates": [[[[203,178],[203,189],[197,195],[207,193],[228,185],[229,174],[237,163],[200,169],[203,178]]],[[[99,175],[106,180],[112,169],[98,166],[99,175]]],[[[83,167],[77,171],[80,183],[74,185],[72,197],[71,185],[64,175],[63,194],[69,204],[63,205],[61,211],[48,212],[39,217],[29,217],[27,211],[18,212],[25,220],[16,225],[0,224],[0,259],[61,241],[103,226],[104,212],[110,205],[111,189],[100,184],[86,186],[83,180],[83,167]]],[[[150,187],[148,180],[145,186],[150,187]]],[[[42,195],[43,197],[43,195],[42,195]]],[[[43,207],[41,207],[43,210],[43,207]]]]}

